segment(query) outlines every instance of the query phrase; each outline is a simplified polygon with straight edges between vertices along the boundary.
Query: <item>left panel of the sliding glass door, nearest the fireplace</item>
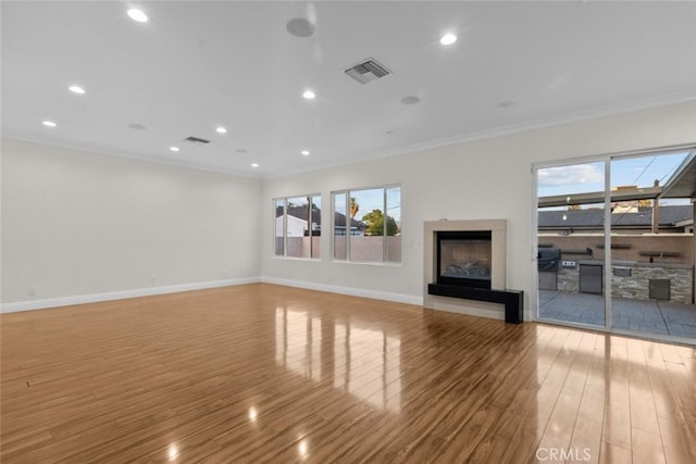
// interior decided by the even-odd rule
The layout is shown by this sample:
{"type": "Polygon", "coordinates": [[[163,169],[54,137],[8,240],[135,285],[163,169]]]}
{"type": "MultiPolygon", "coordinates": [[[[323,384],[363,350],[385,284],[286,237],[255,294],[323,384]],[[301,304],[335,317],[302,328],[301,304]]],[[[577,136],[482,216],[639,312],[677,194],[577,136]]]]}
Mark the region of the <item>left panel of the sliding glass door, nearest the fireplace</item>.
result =
{"type": "Polygon", "coordinates": [[[606,327],[605,164],[537,170],[540,318],[606,327]]]}

